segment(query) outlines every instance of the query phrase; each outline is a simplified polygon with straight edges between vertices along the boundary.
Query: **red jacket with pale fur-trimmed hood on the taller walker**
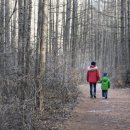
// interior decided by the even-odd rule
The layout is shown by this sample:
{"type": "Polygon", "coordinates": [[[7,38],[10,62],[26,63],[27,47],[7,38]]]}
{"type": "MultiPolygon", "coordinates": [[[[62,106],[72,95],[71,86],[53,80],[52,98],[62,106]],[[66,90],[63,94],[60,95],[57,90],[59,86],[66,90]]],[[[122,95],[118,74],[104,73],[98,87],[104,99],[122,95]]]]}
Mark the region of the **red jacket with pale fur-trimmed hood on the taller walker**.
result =
{"type": "Polygon", "coordinates": [[[97,81],[100,79],[99,71],[96,66],[91,65],[88,67],[87,74],[86,74],[86,80],[89,83],[97,83],[97,81]]]}

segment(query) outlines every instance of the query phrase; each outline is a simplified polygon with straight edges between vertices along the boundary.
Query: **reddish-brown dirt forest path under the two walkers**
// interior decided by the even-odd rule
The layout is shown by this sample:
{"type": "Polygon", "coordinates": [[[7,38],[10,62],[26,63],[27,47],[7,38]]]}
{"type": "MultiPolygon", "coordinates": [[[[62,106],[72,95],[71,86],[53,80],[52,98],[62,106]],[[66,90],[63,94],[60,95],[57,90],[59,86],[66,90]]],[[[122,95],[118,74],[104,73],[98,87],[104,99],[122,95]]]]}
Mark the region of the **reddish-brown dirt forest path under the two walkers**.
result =
{"type": "Polygon", "coordinates": [[[130,89],[110,89],[108,99],[89,96],[89,86],[79,86],[81,95],[71,117],[65,122],[66,130],[130,130],[130,89]]]}

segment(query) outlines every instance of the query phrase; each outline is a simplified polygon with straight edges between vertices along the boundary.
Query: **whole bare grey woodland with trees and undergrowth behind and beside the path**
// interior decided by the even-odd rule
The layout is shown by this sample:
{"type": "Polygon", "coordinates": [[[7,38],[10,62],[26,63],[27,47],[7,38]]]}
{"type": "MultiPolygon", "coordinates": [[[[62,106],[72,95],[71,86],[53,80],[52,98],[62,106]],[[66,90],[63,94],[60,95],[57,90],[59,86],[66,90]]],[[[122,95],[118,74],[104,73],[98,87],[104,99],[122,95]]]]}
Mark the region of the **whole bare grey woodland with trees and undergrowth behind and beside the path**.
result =
{"type": "Polygon", "coordinates": [[[0,130],[60,129],[96,61],[130,83],[130,0],[0,0],[0,130]]]}

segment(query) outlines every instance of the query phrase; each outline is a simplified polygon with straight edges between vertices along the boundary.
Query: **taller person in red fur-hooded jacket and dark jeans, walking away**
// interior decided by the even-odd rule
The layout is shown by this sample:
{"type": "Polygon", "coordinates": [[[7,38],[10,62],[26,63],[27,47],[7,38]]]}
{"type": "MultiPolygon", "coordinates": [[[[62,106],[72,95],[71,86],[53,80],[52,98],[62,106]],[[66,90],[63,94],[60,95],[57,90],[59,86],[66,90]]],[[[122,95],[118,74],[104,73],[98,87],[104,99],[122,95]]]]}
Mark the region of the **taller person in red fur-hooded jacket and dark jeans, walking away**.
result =
{"type": "Polygon", "coordinates": [[[98,67],[96,66],[96,62],[91,62],[91,65],[88,67],[86,74],[87,82],[90,84],[90,97],[96,98],[96,84],[100,79],[98,67]]]}

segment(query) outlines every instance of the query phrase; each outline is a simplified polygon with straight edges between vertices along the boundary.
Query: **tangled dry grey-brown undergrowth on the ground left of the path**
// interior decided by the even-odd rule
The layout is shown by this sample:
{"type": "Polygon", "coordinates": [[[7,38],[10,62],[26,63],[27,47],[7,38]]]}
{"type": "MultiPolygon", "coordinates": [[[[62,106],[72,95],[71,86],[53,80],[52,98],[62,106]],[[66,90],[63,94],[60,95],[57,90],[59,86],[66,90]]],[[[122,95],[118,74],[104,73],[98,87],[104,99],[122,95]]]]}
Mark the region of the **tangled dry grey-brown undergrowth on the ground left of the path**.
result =
{"type": "MultiPolygon", "coordinates": [[[[61,73],[60,78],[62,78],[61,73]]],[[[63,129],[62,123],[69,117],[78,96],[77,71],[69,71],[67,79],[63,84],[59,82],[59,79],[55,80],[53,86],[48,86],[46,82],[43,82],[44,80],[39,80],[44,88],[44,112],[35,109],[34,77],[1,79],[0,130],[63,129]]]]}

